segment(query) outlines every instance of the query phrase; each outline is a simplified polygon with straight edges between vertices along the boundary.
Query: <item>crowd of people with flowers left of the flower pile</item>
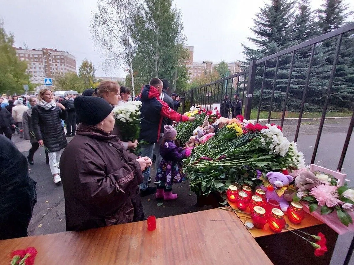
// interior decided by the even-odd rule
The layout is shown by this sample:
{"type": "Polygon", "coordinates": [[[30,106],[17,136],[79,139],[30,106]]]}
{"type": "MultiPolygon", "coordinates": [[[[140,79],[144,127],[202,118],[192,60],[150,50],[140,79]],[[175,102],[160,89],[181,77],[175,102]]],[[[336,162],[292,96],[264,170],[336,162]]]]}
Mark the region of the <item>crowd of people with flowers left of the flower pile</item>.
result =
{"type": "Polygon", "coordinates": [[[127,104],[131,92],[116,82],[103,81],[96,89],[85,90],[82,96],[56,97],[51,89],[45,88],[37,97],[28,96],[25,100],[21,97],[20,102],[16,99],[11,114],[6,109],[11,99],[6,99],[8,104],[0,109],[1,132],[21,128],[23,138],[29,140],[32,147],[25,159],[10,141],[12,131],[5,133],[9,138],[6,141],[1,136],[0,156],[12,157],[7,163],[0,162],[1,177],[6,174],[3,169],[9,167],[8,163],[14,166],[27,161],[25,170],[13,176],[26,184],[16,187],[14,179],[8,179],[4,185],[12,185],[6,192],[11,194],[0,193],[0,230],[6,230],[6,235],[0,234],[0,239],[24,236],[30,218],[16,227],[8,229],[7,226],[12,216],[19,213],[19,204],[27,203],[30,207],[26,208],[26,213],[32,214],[36,189],[35,182],[28,176],[27,162],[34,164],[34,153],[40,146],[47,153],[53,181],[63,184],[68,231],[143,220],[140,197],[154,194],[156,190],[156,198],[177,199],[177,194],[172,193],[172,183],[185,179],[181,160],[188,155],[188,150],[176,146],[177,132],[171,125],[173,121],[186,122],[194,118],[176,112],[180,99],[175,94],[170,97],[168,90],[167,80],[152,78],[136,97],[142,107],[140,136],[135,142],[120,141],[113,107],[127,104]],[[66,124],[66,134],[62,121],[66,124]],[[72,136],[68,143],[66,137],[72,136]],[[138,141],[142,142],[140,156],[132,152],[138,141]],[[156,185],[149,187],[154,154],[156,185]],[[16,197],[20,192],[26,196],[2,204],[2,200],[16,197]]]}

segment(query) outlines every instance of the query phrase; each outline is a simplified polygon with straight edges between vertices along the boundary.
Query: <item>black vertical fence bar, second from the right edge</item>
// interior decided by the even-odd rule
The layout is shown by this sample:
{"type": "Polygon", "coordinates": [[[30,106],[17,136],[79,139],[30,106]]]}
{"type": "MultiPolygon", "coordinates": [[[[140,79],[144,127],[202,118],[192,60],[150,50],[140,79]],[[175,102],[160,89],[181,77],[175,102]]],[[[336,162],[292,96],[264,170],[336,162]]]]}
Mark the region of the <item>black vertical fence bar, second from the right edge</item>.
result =
{"type": "Polygon", "coordinates": [[[331,71],[331,75],[330,75],[330,80],[328,82],[326,101],[325,101],[325,105],[324,105],[323,111],[322,111],[321,122],[320,122],[320,126],[319,126],[318,133],[317,133],[315,147],[313,149],[311,164],[313,164],[315,162],[316,153],[317,153],[318,145],[320,143],[320,138],[321,138],[321,134],[322,134],[323,124],[325,123],[325,117],[326,117],[328,103],[330,101],[330,95],[332,92],[333,79],[334,79],[334,75],[336,73],[336,67],[337,67],[337,63],[338,63],[338,56],[339,56],[339,50],[341,48],[342,37],[343,37],[343,34],[338,36],[337,47],[336,47],[336,51],[334,54],[334,60],[333,60],[333,65],[332,65],[332,71],[331,71]]]}

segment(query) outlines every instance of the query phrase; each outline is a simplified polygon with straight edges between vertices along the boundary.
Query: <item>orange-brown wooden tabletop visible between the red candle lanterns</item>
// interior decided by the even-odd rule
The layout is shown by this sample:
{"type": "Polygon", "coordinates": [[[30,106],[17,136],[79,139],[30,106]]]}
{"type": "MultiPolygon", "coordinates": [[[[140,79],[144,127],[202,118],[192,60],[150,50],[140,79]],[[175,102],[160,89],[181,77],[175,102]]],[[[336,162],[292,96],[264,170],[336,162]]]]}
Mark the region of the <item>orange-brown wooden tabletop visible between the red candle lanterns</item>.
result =
{"type": "MultiPolygon", "coordinates": [[[[230,204],[230,206],[232,208],[237,209],[235,202],[229,202],[229,204],[230,204]]],[[[250,213],[250,208],[247,207],[246,212],[250,213]]],[[[246,219],[247,219],[247,221],[252,222],[250,215],[242,214],[242,213],[236,213],[236,215],[241,219],[242,223],[245,223],[246,219]]],[[[301,229],[301,228],[306,228],[306,227],[309,227],[309,226],[323,224],[323,222],[321,222],[320,220],[316,219],[315,217],[311,216],[308,213],[305,213],[305,218],[302,220],[302,222],[300,224],[291,223],[289,221],[286,213],[284,213],[284,218],[285,218],[286,223],[289,224],[292,228],[295,228],[295,229],[301,229]]],[[[267,235],[275,234],[272,230],[269,229],[268,224],[265,224],[263,229],[253,228],[252,230],[249,230],[249,231],[250,231],[250,233],[251,233],[251,235],[253,237],[267,236],[267,235]]],[[[289,231],[286,230],[286,229],[283,229],[281,232],[289,232],[289,231]]]]}

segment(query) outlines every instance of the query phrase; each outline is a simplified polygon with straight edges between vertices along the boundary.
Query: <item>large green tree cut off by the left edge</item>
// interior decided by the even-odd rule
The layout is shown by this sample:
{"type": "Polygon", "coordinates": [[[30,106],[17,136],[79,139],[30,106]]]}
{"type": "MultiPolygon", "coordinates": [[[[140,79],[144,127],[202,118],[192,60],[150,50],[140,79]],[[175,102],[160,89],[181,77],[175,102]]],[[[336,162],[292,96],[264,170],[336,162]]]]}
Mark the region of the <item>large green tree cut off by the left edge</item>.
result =
{"type": "Polygon", "coordinates": [[[13,44],[13,35],[6,34],[0,22],[0,93],[23,93],[23,85],[30,84],[27,63],[17,59],[13,44]]]}

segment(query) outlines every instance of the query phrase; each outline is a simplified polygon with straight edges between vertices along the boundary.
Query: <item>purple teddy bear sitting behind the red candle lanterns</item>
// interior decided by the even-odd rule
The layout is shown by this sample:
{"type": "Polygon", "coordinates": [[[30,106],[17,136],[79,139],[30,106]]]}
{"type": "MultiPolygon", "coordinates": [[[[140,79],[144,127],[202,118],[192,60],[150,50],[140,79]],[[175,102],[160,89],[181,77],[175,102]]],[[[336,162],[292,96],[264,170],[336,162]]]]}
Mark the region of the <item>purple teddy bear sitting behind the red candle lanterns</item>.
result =
{"type": "Polygon", "coordinates": [[[270,185],[268,187],[261,185],[261,188],[265,191],[265,196],[268,200],[279,201],[281,210],[286,211],[287,207],[289,207],[289,202],[284,199],[283,194],[286,191],[286,187],[293,181],[293,177],[280,172],[268,172],[266,176],[270,185]]]}

